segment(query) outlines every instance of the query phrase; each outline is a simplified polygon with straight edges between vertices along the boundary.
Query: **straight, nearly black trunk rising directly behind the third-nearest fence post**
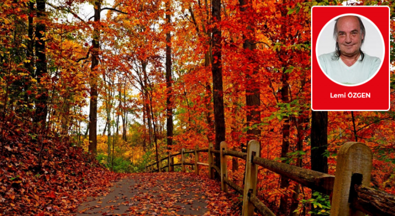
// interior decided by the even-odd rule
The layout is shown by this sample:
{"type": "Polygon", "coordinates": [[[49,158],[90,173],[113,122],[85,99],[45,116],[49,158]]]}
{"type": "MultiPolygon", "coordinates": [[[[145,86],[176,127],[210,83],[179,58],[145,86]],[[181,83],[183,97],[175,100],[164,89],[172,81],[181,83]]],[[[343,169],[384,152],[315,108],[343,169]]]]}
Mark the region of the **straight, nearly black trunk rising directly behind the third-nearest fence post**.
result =
{"type": "MultiPolygon", "coordinates": [[[[214,99],[214,128],[215,128],[215,145],[216,150],[220,150],[220,143],[225,141],[225,114],[224,114],[224,92],[222,88],[222,60],[221,60],[221,1],[212,1],[213,27],[213,99],[214,99]]],[[[220,167],[220,156],[216,154],[214,164],[220,167]]],[[[219,178],[218,173],[215,175],[219,178]]]]}

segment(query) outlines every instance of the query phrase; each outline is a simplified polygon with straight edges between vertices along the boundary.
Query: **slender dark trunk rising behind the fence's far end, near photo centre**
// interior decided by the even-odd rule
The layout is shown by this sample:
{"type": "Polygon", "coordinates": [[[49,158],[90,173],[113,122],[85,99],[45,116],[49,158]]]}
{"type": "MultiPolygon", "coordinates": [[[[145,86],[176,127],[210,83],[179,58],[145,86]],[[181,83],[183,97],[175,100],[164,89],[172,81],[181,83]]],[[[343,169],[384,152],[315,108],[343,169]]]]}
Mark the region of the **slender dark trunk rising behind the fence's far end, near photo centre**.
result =
{"type": "MultiPolygon", "coordinates": [[[[170,0],[166,2],[166,20],[167,26],[171,25],[170,20],[170,0]]],[[[167,131],[167,149],[171,150],[171,145],[173,145],[173,108],[171,104],[171,35],[170,31],[166,33],[166,131],[167,131]]]]}

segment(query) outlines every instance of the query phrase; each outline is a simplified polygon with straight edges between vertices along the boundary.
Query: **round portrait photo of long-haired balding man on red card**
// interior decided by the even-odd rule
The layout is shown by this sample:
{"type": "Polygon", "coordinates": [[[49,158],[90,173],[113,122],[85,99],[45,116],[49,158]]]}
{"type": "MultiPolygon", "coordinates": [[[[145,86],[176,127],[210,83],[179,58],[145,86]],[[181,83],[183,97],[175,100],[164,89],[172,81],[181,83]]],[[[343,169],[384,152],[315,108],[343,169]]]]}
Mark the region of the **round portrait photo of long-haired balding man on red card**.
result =
{"type": "Polygon", "coordinates": [[[341,85],[355,86],[369,81],[380,69],[384,41],[369,19],[345,14],[321,30],[316,53],[327,77],[341,85]]]}

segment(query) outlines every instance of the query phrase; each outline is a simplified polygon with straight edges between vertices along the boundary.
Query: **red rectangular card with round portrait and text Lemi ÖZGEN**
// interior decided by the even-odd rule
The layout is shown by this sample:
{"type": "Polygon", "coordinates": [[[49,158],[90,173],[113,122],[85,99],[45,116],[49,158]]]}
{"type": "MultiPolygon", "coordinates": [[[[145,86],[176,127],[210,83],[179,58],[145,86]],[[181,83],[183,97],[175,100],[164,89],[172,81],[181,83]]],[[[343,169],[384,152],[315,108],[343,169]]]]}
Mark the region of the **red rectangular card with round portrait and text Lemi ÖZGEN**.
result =
{"type": "Polygon", "coordinates": [[[311,109],[388,111],[389,7],[311,10],[311,109]]]}

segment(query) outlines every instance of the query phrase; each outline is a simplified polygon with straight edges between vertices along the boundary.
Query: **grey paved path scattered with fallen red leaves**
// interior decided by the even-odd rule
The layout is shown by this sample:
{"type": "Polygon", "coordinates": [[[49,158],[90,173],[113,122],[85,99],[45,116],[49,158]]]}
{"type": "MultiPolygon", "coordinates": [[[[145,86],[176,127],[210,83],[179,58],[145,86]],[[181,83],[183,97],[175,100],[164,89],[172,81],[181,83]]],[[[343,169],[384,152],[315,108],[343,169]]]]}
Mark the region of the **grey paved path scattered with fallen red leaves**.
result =
{"type": "Polygon", "coordinates": [[[135,173],[116,182],[106,196],[87,197],[83,215],[239,215],[234,193],[216,180],[192,173],[135,173]]]}

